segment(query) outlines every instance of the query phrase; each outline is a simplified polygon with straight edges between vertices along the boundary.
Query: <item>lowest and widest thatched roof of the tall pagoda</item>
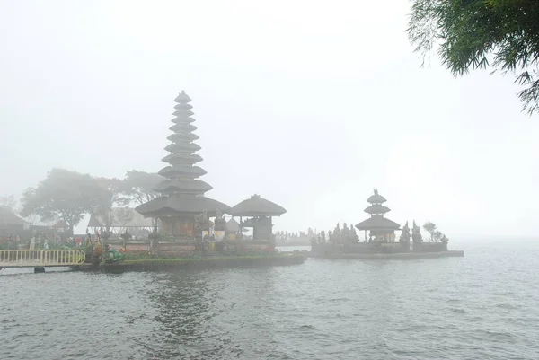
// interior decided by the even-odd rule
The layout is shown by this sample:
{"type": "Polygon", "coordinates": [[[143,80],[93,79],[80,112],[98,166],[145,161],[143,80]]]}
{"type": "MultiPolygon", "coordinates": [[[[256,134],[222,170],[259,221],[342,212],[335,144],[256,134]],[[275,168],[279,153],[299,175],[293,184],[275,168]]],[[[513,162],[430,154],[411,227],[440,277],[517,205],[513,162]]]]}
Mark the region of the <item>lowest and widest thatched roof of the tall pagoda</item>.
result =
{"type": "Polygon", "coordinates": [[[216,210],[221,213],[228,213],[230,206],[227,206],[213,198],[206,197],[182,197],[170,196],[155,198],[135,208],[138,213],[147,216],[159,215],[180,215],[185,214],[202,214],[204,211],[208,216],[215,216],[216,210]]]}

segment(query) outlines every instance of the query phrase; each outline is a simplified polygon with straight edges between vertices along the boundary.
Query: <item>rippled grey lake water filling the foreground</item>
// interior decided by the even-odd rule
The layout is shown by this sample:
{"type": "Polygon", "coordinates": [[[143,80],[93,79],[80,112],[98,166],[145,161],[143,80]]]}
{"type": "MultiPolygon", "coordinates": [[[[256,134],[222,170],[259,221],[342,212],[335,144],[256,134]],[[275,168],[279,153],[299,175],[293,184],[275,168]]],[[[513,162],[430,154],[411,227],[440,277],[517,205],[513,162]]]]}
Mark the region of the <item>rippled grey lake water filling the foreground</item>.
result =
{"type": "Polygon", "coordinates": [[[539,241],[464,258],[0,272],[2,359],[537,359],[539,241]]]}

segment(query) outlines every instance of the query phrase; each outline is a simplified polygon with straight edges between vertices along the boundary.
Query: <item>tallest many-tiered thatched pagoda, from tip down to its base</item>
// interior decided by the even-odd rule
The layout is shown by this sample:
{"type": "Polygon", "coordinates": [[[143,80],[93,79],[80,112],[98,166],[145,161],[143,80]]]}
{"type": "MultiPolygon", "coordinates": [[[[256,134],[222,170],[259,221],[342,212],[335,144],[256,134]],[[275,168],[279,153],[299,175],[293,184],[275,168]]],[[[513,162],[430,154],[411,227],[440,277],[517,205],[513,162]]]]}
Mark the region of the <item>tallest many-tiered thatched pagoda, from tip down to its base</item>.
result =
{"type": "Polygon", "coordinates": [[[169,166],[159,171],[166,180],[155,189],[162,196],[137,206],[137,212],[146,217],[159,218],[165,233],[189,238],[195,235],[197,215],[206,213],[215,216],[225,213],[230,206],[204,196],[212,187],[199,180],[206,171],[196,165],[202,158],[195,154],[200,146],[193,142],[199,136],[193,134],[197,127],[192,125],[195,119],[191,118],[191,99],[182,91],[174,101],[177,104],[170,127],[172,135],[167,137],[172,144],[164,148],[171,154],[163,158],[163,162],[169,163],[169,166]]]}

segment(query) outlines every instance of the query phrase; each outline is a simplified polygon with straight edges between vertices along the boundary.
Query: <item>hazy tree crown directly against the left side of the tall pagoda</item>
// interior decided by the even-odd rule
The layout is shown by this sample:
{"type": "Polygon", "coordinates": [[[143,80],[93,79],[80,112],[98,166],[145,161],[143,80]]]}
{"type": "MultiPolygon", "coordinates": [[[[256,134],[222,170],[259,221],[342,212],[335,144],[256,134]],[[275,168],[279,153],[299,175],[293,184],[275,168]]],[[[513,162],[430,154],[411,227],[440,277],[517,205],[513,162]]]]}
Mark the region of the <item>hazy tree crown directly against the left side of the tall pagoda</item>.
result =
{"type": "Polygon", "coordinates": [[[156,173],[128,171],[123,180],[122,193],[129,202],[142,205],[159,196],[154,189],[163,180],[163,176],[156,173]]]}

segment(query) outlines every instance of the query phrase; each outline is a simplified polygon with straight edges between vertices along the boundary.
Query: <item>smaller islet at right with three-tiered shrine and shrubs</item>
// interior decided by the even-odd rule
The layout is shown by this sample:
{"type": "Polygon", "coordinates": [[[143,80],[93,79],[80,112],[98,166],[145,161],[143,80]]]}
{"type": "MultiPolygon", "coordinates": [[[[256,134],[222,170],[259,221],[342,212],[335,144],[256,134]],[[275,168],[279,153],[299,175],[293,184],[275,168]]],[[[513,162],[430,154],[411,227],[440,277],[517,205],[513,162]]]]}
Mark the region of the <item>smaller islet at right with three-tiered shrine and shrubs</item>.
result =
{"type": "Polygon", "coordinates": [[[387,200],[374,190],[367,198],[369,206],[364,210],[370,217],[355,227],[340,224],[329,233],[321,233],[311,241],[313,257],[340,259],[415,259],[462,257],[463,250],[448,250],[446,235],[437,230],[436,224],[426,223],[423,228],[430,234],[429,241],[423,241],[420,226],[413,221],[412,228],[408,221],[401,228],[400,224],[386,218],[384,215],[391,210],[384,206],[387,200]],[[363,241],[356,232],[363,232],[363,241]],[[401,232],[396,241],[395,232],[401,232]]]}

